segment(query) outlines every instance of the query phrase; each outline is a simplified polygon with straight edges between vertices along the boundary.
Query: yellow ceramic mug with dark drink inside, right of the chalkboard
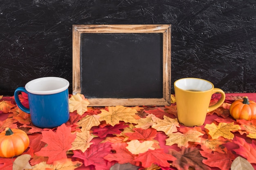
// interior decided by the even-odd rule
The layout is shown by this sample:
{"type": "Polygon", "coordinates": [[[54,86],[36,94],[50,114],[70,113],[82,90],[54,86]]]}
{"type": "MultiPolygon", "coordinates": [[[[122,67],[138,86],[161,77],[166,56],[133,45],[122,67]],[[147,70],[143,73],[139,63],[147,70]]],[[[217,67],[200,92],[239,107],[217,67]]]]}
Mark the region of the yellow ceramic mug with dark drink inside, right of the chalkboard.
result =
{"type": "Polygon", "coordinates": [[[225,100],[225,93],[214,88],[207,80],[199,78],[183,78],[174,82],[178,121],[184,126],[201,126],[208,112],[215,110],[225,100]],[[211,96],[220,93],[220,100],[209,106],[211,96]]]}

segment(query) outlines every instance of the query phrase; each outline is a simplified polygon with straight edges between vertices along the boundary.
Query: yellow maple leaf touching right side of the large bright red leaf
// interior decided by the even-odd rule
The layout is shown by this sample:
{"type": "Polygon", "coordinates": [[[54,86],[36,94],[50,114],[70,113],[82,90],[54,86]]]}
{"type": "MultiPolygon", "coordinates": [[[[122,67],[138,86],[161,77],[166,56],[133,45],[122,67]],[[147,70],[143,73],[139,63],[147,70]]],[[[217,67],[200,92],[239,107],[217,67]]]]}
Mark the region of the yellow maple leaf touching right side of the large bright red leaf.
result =
{"type": "Polygon", "coordinates": [[[76,139],[72,142],[72,148],[70,150],[81,150],[85,152],[86,149],[90,147],[93,136],[90,134],[89,130],[83,132],[76,132],[76,139]]]}

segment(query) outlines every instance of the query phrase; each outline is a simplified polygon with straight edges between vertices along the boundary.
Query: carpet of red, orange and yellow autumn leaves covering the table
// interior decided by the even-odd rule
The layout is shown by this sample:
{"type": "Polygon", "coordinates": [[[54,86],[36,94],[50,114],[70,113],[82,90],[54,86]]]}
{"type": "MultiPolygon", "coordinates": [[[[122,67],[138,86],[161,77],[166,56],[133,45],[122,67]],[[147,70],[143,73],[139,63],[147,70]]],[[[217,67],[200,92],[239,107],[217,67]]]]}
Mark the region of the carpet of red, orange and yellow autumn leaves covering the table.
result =
{"type": "MultiPolygon", "coordinates": [[[[28,107],[27,95],[19,97],[28,107]]],[[[177,121],[175,104],[88,107],[88,100],[76,94],[70,95],[69,121],[42,129],[31,124],[13,97],[0,96],[0,118],[6,117],[0,132],[19,128],[30,139],[22,155],[0,158],[0,169],[229,170],[236,158],[234,167],[241,160],[256,167],[256,119],[233,119],[229,106],[235,99],[208,113],[204,125],[185,127],[177,121]]],[[[217,101],[213,96],[211,104],[217,101]]]]}

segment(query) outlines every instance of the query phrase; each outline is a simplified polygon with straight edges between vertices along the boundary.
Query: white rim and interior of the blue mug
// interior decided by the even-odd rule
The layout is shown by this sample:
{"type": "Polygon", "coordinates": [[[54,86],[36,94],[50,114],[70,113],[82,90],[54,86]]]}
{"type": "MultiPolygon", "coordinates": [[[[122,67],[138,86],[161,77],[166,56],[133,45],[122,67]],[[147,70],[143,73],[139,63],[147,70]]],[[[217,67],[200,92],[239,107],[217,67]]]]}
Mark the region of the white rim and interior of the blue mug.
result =
{"type": "Polygon", "coordinates": [[[49,95],[65,91],[70,83],[61,77],[41,77],[31,80],[25,85],[29,93],[49,95]]]}

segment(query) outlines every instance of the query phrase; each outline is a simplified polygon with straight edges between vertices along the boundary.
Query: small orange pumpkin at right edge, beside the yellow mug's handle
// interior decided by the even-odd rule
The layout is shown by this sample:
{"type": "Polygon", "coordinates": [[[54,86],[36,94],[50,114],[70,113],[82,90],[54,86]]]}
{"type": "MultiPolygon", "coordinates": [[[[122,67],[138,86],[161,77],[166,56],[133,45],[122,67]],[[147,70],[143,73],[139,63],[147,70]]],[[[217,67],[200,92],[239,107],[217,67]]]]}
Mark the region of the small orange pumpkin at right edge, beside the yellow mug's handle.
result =
{"type": "Polygon", "coordinates": [[[248,97],[238,99],[229,108],[229,113],[234,119],[252,120],[256,119],[256,103],[249,101],[248,97]]]}

